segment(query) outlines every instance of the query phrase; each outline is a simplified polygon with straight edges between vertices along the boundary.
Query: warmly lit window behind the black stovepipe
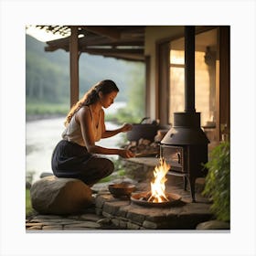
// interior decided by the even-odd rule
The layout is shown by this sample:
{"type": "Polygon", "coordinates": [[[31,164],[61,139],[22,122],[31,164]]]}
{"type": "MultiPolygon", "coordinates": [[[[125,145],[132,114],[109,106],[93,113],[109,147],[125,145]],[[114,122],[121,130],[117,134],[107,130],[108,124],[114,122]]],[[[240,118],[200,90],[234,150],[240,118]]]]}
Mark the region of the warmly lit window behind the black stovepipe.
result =
{"type": "MultiPolygon", "coordinates": [[[[185,42],[184,37],[170,42],[169,123],[174,112],[185,109],[185,42]]],[[[195,41],[195,108],[201,112],[201,126],[216,126],[216,83],[219,81],[218,29],[196,35],[195,41]]]]}

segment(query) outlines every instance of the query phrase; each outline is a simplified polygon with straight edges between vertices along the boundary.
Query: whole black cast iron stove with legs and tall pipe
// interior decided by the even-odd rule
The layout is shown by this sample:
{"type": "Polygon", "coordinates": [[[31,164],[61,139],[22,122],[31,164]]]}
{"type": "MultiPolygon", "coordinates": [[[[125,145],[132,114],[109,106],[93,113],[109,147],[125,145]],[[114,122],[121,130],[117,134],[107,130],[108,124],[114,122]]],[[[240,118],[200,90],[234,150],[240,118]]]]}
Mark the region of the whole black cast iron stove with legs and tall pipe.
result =
{"type": "Polygon", "coordinates": [[[184,188],[190,185],[195,202],[197,177],[207,175],[208,138],[200,126],[195,109],[195,27],[185,27],[185,112],[174,113],[173,127],[160,143],[160,155],[171,165],[168,175],[183,176],[184,188]]]}

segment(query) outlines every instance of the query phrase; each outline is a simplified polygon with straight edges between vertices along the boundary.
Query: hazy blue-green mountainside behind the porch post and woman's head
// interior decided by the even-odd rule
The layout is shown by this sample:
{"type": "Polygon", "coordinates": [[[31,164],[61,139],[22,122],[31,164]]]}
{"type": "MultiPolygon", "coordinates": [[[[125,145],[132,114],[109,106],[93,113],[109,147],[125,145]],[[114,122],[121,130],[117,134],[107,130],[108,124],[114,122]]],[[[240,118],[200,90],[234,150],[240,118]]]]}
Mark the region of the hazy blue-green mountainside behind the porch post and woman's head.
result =
{"type": "MultiPolygon", "coordinates": [[[[69,52],[46,52],[46,44],[26,36],[26,96],[29,101],[69,101],[69,52]]],[[[134,80],[144,76],[144,64],[80,55],[80,97],[99,80],[111,79],[120,92],[117,101],[127,101],[134,80]],[[134,72],[136,69],[136,72],[134,72]],[[139,72],[138,72],[139,70],[139,72]],[[141,71],[140,71],[141,70],[141,71]],[[136,78],[136,76],[139,76],[136,78]]]]}

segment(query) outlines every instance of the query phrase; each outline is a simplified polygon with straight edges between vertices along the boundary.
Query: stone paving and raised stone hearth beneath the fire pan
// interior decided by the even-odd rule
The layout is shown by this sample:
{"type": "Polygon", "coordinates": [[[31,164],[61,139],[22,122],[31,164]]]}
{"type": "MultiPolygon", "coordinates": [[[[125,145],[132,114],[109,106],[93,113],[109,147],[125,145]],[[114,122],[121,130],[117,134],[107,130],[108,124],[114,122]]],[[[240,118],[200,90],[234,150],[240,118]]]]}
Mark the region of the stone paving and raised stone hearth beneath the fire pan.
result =
{"type": "MultiPolygon", "coordinates": [[[[190,192],[183,189],[182,180],[166,182],[166,192],[181,196],[176,206],[148,208],[135,205],[130,199],[112,197],[108,184],[96,185],[94,204],[80,214],[59,216],[35,213],[26,219],[27,232],[41,231],[100,231],[145,229],[197,229],[201,222],[214,219],[210,213],[210,202],[203,197],[196,184],[196,203],[191,202],[190,192]],[[97,191],[98,190],[98,191],[97,191]]],[[[200,186],[199,186],[200,187],[200,186]]],[[[93,189],[93,190],[94,190],[93,189]]],[[[136,191],[149,191],[149,182],[136,184],[136,191]]]]}

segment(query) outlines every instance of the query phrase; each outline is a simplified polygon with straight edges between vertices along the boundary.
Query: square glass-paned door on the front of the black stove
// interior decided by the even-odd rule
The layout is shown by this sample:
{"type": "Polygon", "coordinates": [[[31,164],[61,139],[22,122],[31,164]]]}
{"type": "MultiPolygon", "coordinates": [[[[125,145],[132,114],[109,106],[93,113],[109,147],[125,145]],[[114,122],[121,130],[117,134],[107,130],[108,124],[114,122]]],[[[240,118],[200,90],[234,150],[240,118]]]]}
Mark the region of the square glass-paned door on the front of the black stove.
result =
{"type": "Polygon", "coordinates": [[[166,144],[160,146],[160,155],[165,158],[168,165],[171,165],[171,171],[186,172],[185,154],[186,149],[183,146],[166,144]]]}

